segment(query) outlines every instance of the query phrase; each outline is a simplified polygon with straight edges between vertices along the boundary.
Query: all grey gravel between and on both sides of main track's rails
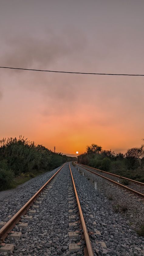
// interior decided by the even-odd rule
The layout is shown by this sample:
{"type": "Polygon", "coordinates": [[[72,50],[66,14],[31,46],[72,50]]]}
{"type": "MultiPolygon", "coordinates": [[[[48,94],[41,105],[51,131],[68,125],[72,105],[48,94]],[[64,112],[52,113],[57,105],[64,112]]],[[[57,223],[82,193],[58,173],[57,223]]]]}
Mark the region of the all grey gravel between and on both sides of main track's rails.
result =
{"type": "MultiPolygon", "coordinates": [[[[142,256],[144,238],[137,236],[125,217],[113,211],[111,202],[105,197],[105,194],[100,190],[96,191],[90,180],[87,180],[86,171],[83,177],[72,164],[70,166],[87,229],[93,233],[101,232],[100,235],[92,234],[90,237],[94,255],[142,256]],[[105,242],[106,247],[102,247],[100,242],[105,242]]],[[[1,197],[1,221],[7,221],[9,214],[14,215],[58,169],[33,178],[21,185],[17,189],[18,191],[10,191],[9,196],[5,197],[5,205],[2,203],[4,199],[1,197]],[[14,209],[15,212],[13,212],[14,209]],[[3,216],[4,213],[5,216],[3,216]]],[[[91,179],[93,178],[91,174],[88,175],[91,179]]],[[[108,183],[105,183],[105,187],[107,186],[109,186],[108,183]]],[[[83,247],[76,253],[69,252],[69,244],[79,242],[81,235],[72,239],[68,236],[69,223],[79,220],[68,163],[50,182],[45,192],[46,195],[41,199],[42,203],[39,205],[39,209],[32,215],[33,219],[24,220],[22,216],[21,221],[29,223],[28,227],[21,230],[16,226],[13,229],[22,232],[20,240],[13,240],[9,237],[5,239],[6,243],[15,245],[15,249],[10,255],[84,255],[83,247]],[[70,209],[75,209],[73,213],[76,216],[75,220],[69,220],[70,209]]],[[[73,229],[73,231],[75,230],[79,230],[79,224],[73,229]]]]}

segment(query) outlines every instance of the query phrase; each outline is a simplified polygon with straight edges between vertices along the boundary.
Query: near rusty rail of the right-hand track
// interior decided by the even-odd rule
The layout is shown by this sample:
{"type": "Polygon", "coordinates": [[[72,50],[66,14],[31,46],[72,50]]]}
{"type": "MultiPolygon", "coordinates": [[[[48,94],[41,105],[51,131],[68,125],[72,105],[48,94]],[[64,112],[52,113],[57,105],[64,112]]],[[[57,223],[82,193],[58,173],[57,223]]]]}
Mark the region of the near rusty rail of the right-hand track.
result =
{"type": "MultiPolygon", "coordinates": [[[[76,162],[75,162],[75,163],[76,163],[76,162]]],[[[76,163],[76,164],[77,164],[77,163],[76,163]]],[[[94,172],[94,171],[91,171],[91,170],[89,170],[89,169],[87,169],[87,168],[81,166],[80,164],[77,164],[77,165],[79,165],[80,167],[86,169],[87,171],[92,172],[92,173],[95,174],[95,175],[98,175],[98,176],[100,176],[100,177],[102,177],[102,178],[104,178],[104,179],[106,179],[106,180],[108,180],[108,181],[110,181],[110,182],[115,183],[116,185],[122,187],[123,189],[126,189],[126,190],[128,190],[129,192],[131,192],[131,193],[133,193],[133,194],[135,194],[135,195],[138,195],[138,196],[140,196],[140,197],[142,197],[142,198],[144,199],[144,194],[142,194],[142,193],[140,193],[140,192],[138,192],[138,191],[136,191],[136,190],[130,189],[130,188],[128,188],[128,187],[126,187],[126,186],[124,186],[124,185],[122,185],[122,184],[120,184],[120,183],[118,183],[118,182],[116,182],[116,181],[114,181],[114,180],[111,180],[111,179],[109,179],[109,178],[107,178],[107,177],[105,177],[105,176],[102,176],[102,175],[100,175],[100,174],[98,174],[98,173],[96,173],[96,172],[94,172]]]]}

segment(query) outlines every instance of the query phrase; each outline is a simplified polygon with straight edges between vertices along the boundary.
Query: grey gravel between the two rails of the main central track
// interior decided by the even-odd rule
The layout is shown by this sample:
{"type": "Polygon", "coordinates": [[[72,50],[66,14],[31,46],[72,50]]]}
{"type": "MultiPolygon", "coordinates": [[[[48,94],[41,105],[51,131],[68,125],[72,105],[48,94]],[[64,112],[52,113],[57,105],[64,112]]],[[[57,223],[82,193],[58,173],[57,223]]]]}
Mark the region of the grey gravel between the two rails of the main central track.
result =
{"type": "MultiPolygon", "coordinates": [[[[75,244],[80,241],[81,235],[77,239],[69,239],[68,236],[69,231],[79,229],[79,227],[69,228],[69,223],[78,221],[79,217],[68,163],[50,182],[47,189],[44,190],[46,195],[42,193],[42,203],[36,213],[34,215],[28,213],[28,215],[33,216],[33,219],[24,220],[22,216],[21,222],[28,223],[28,227],[21,230],[16,226],[13,229],[14,231],[22,232],[20,240],[13,240],[9,237],[5,239],[5,243],[13,243],[15,245],[15,249],[10,255],[66,256],[70,255],[69,244],[75,244]],[[73,212],[76,215],[75,220],[69,220],[71,215],[69,214],[69,209],[75,209],[73,212]]],[[[2,253],[2,255],[4,254],[2,253]]],[[[83,247],[76,253],[72,252],[71,255],[83,255],[83,247]]]]}

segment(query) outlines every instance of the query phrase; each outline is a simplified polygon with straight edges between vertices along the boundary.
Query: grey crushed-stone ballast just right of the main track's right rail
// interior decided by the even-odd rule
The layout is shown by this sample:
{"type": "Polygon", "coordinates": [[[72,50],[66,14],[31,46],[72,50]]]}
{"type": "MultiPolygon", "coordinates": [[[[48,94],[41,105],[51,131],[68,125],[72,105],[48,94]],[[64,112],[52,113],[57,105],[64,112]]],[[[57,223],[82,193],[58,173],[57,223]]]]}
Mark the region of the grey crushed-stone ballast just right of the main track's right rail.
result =
{"type": "MultiPolygon", "coordinates": [[[[72,164],[71,169],[87,227],[94,233],[96,230],[101,232],[101,235],[92,235],[91,241],[94,251],[98,255],[107,256],[143,255],[144,238],[138,237],[135,231],[127,224],[126,219],[120,213],[113,211],[111,202],[105,197],[104,193],[101,193],[101,190],[96,191],[94,189],[94,185],[91,184],[90,180],[87,180],[86,173],[88,173],[88,178],[92,180],[96,177],[98,187],[101,186],[104,191],[105,187],[107,187],[107,191],[111,189],[110,192],[115,193],[115,187],[111,187],[108,182],[103,183],[105,182],[104,179],[90,174],[86,170],[83,177],[72,164]],[[96,222],[95,227],[93,221],[96,222]],[[101,244],[96,246],[98,241],[104,241],[107,248],[101,248],[101,244]]],[[[121,191],[122,196],[124,195],[121,191]]],[[[138,205],[140,204],[140,202],[137,203],[138,205]]]]}

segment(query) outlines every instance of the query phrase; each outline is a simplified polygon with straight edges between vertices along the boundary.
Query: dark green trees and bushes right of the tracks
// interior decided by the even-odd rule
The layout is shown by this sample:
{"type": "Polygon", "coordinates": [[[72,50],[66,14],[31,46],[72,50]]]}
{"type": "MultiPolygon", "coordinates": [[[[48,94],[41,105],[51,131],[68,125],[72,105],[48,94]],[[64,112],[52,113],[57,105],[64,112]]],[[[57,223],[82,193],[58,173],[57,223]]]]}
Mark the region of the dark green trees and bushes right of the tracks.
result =
{"type": "Polygon", "coordinates": [[[125,154],[103,150],[97,144],[87,146],[86,152],[78,156],[78,162],[103,171],[144,182],[144,145],[127,150],[125,154]]]}

